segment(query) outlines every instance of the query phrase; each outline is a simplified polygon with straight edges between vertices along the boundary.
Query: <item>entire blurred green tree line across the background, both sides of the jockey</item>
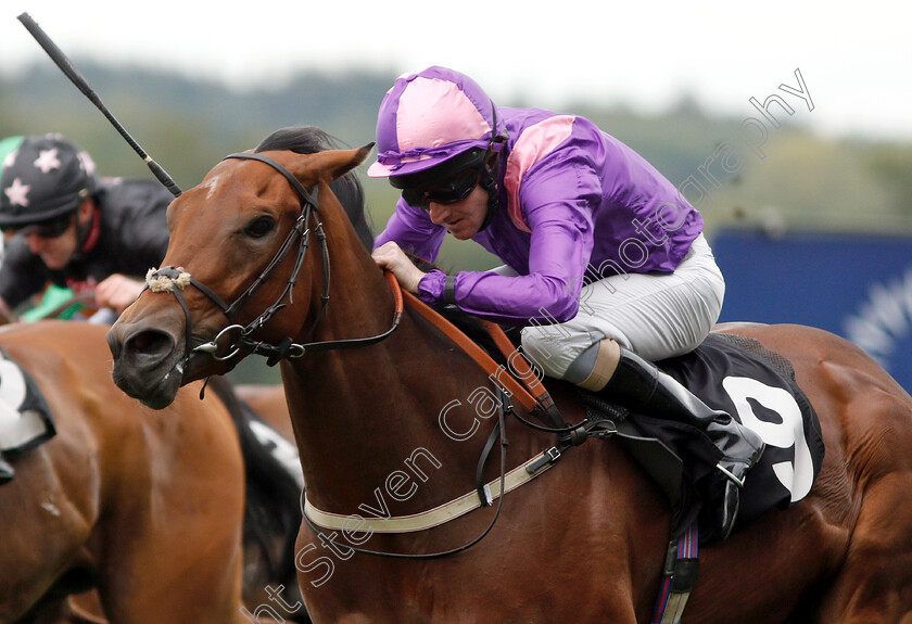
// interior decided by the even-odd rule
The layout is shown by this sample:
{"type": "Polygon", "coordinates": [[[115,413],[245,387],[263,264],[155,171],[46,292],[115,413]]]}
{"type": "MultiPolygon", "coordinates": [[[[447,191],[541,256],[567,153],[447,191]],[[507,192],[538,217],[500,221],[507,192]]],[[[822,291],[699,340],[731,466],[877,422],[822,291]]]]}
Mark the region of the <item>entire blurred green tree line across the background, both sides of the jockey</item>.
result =
{"type": "MultiPolygon", "coordinates": [[[[395,79],[385,73],[305,73],[274,89],[239,91],[178,74],[111,68],[78,58],[74,62],[112,113],[182,189],[198,183],[224,155],[252,148],[284,126],[318,126],[351,147],[372,141],[377,107],[395,79]]],[[[738,170],[725,177],[714,165],[720,187],[710,189],[712,209],[704,212],[710,239],[714,229],[733,224],[761,228],[771,235],[802,228],[912,232],[912,143],[815,135],[801,125],[814,113],[800,101],[793,103],[794,117],[778,115],[786,123],[770,131],[762,148],[765,157],[745,151],[738,170]]],[[[661,114],[573,102],[559,112],[591,118],[675,184],[698,176],[698,168],[720,145],[736,145],[742,122],[758,115],[747,102],[742,117],[710,115],[686,97],[661,114]]],[[[50,61],[0,77],[0,138],[48,131],[61,132],[87,150],[101,175],[151,176],[50,61]]],[[[362,175],[362,181],[369,217],[379,232],[396,194],[383,180],[362,175]]],[[[439,263],[444,268],[485,269],[496,259],[478,245],[448,239],[439,263]]],[[[250,358],[232,375],[241,382],[278,381],[276,370],[250,358]]]]}

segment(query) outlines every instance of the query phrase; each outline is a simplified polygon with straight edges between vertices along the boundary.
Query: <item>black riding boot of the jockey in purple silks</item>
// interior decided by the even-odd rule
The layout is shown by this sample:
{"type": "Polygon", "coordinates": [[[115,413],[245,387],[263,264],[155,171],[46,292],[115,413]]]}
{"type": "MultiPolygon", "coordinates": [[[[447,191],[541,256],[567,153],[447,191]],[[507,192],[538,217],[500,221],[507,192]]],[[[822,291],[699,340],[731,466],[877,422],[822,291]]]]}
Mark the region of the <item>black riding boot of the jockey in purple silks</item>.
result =
{"type": "Polygon", "coordinates": [[[722,451],[717,468],[726,482],[720,524],[722,538],[727,537],[738,513],[738,489],[765,446],[760,436],[724,411],[711,409],[673,377],[624,347],[603,392],[634,411],[695,426],[722,451]]]}

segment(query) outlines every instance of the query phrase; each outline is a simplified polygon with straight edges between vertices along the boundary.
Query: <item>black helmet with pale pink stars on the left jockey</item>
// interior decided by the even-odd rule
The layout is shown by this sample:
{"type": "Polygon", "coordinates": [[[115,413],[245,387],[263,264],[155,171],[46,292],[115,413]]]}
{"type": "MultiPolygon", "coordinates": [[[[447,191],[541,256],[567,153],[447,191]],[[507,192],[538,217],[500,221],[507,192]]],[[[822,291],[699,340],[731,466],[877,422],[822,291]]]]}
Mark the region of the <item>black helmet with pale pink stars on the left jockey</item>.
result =
{"type": "Polygon", "coordinates": [[[96,192],[94,164],[60,135],[10,138],[0,154],[0,228],[21,228],[79,207],[96,192]]]}

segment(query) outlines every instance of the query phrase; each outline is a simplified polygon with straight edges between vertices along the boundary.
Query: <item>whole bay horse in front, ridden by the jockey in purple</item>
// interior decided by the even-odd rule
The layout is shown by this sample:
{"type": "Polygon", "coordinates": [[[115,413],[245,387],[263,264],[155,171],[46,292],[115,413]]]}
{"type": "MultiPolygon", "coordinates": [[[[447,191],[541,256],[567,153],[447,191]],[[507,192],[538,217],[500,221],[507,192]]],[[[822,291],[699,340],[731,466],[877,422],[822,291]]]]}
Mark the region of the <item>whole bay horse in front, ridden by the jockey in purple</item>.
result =
{"type": "MultiPolygon", "coordinates": [[[[396,311],[329,188],[369,149],[299,154],[267,139],[178,198],[153,275],[162,283],[109,333],[115,382],[165,408],[244,355],[280,361],[307,504],[351,520],[320,535],[301,526],[295,562],[314,622],[648,622],[669,505],[615,440],[588,441],[497,504],[434,527],[369,529],[473,493],[498,420],[469,399],[487,373],[413,308],[396,311]]],[[[833,334],[724,331],[791,361],[827,450],[805,499],[700,551],[686,622],[912,622],[912,398],[833,334]]],[[[575,397],[549,385],[566,420],[580,421],[575,397]]],[[[512,419],[505,434],[506,464],[489,462],[484,481],[553,442],[512,419]]]]}

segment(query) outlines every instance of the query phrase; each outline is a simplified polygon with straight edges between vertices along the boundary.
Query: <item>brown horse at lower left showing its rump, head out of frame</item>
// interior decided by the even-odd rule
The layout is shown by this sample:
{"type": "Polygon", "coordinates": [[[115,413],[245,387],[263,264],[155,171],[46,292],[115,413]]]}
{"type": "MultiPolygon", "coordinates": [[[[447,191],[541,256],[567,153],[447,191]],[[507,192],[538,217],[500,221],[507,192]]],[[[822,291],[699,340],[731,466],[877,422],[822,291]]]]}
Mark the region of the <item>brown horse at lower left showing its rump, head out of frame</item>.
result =
{"type": "Polygon", "coordinates": [[[240,609],[268,601],[265,585],[280,578],[253,534],[273,535],[256,518],[283,511],[245,488],[263,460],[242,453],[233,417],[215,393],[200,400],[201,384],[163,411],[124,395],[106,331],[0,329],[56,429],[11,457],[16,475],[0,487],[0,622],[245,623],[240,609]]]}

